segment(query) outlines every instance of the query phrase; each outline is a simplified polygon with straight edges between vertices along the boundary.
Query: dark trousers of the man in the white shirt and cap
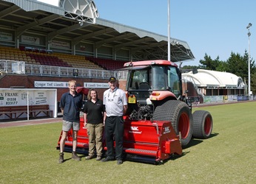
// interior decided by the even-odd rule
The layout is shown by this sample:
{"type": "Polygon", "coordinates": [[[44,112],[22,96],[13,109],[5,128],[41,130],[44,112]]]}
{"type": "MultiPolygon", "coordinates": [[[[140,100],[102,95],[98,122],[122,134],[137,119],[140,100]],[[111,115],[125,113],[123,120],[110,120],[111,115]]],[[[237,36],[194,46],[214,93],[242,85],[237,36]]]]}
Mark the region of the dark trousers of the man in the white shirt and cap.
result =
{"type": "Polygon", "coordinates": [[[110,116],[105,121],[107,157],[123,158],[124,119],[122,116],[110,116]],[[114,152],[115,138],[115,152],[114,152]]]}

